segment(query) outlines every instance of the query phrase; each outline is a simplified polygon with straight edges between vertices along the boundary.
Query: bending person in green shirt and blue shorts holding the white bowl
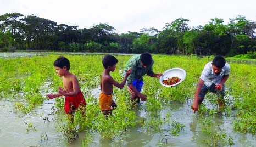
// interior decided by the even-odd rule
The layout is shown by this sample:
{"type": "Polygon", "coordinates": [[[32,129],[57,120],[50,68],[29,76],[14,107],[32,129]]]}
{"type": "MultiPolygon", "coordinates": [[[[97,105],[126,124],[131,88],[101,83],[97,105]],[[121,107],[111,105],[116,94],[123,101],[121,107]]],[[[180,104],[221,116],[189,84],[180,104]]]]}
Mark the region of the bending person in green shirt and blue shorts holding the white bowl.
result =
{"type": "Polygon", "coordinates": [[[140,102],[147,99],[147,96],[141,93],[143,86],[143,78],[145,74],[151,77],[160,78],[163,74],[155,74],[152,69],[154,61],[151,54],[142,53],[141,55],[132,56],[124,67],[124,74],[126,71],[131,68],[131,74],[127,78],[127,86],[129,92],[131,93],[131,103],[135,103],[135,98],[138,98],[137,102],[140,102]]]}

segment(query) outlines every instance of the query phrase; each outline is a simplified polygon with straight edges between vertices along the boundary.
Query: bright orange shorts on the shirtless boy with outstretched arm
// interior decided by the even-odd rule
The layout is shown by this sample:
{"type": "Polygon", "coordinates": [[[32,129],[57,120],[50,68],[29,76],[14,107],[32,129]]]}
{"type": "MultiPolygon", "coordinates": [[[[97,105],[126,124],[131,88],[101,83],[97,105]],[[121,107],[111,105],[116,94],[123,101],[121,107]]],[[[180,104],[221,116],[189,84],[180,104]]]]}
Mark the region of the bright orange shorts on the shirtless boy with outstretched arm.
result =
{"type": "Polygon", "coordinates": [[[111,111],[112,95],[106,95],[101,92],[101,94],[99,94],[99,106],[101,107],[101,110],[111,111]]]}

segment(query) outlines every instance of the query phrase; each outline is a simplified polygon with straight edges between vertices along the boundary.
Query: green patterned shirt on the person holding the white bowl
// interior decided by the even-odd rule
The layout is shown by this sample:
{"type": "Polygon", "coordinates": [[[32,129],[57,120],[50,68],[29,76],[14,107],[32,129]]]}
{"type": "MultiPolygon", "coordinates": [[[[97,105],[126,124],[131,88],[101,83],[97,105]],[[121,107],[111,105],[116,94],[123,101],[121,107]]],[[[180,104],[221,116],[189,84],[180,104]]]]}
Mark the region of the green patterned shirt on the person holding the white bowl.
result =
{"type": "Polygon", "coordinates": [[[152,63],[148,65],[146,68],[142,67],[140,62],[140,55],[132,56],[127,63],[125,64],[124,71],[126,72],[131,67],[131,74],[127,78],[127,83],[132,84],[133,80],[141,79],[148,71],[152,71],[152,65],[154,61],[152,59],[152,63]]]}

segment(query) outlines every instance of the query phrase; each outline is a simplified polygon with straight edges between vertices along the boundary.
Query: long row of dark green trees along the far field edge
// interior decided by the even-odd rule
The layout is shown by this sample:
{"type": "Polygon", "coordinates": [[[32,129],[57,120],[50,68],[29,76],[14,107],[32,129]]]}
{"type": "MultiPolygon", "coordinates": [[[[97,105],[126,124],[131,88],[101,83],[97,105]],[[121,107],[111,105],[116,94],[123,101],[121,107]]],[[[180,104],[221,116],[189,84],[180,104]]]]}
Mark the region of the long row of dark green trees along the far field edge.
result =
{"type": "Polygon", "coordinates": [[[190,28],[190,20],[177,18],[161,31],[152,27],[118,34],[113,26],[103,23],[79,29],[33,14],[7,13],[0,16],[0,50],[224,56],[255,53],[256,22],[241,15],[229,20],[224,24],[223,19],[213,18],[204,26],[190,28]]]}

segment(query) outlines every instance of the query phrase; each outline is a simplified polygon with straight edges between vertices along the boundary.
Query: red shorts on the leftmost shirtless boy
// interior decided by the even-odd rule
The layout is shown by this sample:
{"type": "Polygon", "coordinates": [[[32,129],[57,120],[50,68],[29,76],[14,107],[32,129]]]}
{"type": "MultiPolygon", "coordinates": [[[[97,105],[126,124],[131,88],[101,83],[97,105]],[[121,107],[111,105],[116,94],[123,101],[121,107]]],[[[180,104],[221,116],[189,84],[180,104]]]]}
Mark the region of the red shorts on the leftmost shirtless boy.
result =
{"type": "Polygon", "coordinates": [[[75,96],[65,96],[64,110],[66,114],[74,114],[75,110],[79,108],[79,106],[86,107],[84,95],[82,95],[81,91],[79,91],[75,96]]]}

